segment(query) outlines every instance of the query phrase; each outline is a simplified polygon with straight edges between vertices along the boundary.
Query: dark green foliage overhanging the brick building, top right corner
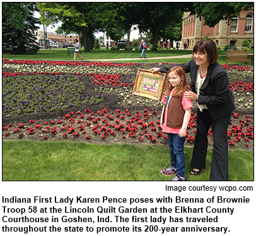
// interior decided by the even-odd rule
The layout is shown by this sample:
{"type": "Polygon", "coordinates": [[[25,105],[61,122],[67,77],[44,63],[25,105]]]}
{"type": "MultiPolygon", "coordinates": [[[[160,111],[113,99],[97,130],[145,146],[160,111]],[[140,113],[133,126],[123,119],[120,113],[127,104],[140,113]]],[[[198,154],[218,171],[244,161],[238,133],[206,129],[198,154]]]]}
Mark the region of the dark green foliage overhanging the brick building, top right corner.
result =
{"type": "Polygon", "coordinates": [[[214,27],[221,20],[229,23],[234,15],[240,13],[242,8],[247,11],[253,8],[253,3],[194,3],[194,14],[199,20],[204,18],[204,25],[214,27]]]}

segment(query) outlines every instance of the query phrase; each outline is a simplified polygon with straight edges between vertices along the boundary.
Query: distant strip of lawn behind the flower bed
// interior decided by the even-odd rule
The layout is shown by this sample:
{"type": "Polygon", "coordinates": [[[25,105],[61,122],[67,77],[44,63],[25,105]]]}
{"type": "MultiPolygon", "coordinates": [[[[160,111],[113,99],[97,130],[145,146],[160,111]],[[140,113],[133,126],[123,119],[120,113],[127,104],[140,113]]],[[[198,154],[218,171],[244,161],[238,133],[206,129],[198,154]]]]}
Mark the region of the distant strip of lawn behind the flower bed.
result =
{"type": "MultiPolygon", "coordinates": [[[[219,55],[219,64],[226,64],[226,52],[224,50],[218,51],[219,55]]],[[[253,53],[253,51],[249,51],[248,53],[253,53]]],[[[132,62],[132,63],[152,63],[152,62],[166,62],[166,63],[187,63],[191,60],[189,58],[175,58],[175,59],[168,59],[167,57],[178,56],[178,55],[192,55],[192,50],[158,50],[157,52],[152,52],[148,50],[146,52],[147,57],[154,57],[154,59],[139,59],[141,55],[141,50],[135,51],[127,51],[127,50],[106,50],[105,48],[100,48],[98,50],[91,50],[91,52],[83,52],[82,55],[84,60],[91,61],[91,60],[107,60],[109,59],[123,59],[118,60],[118,62],[132,62]],[[166,57],[165,59],[157,59],[157,57],[166,57]]],[[[254,65],[254,57],[251,57],[251,67],[253,68],[254,65]]],[[[49,50],[39,50],[37,54],[32,55],[11,55],[11,54],[3,54],[3,59],[16,59],[16,60],[73,60],[73,54],[70,56],[67,55],[67,48],[55,48],[49,50]]],[[[113,61],[114,62],[114,61],[113,61]]],[[[233,62],[232,64],[240,64],[245,65],[245,62],[233,62]]]]}

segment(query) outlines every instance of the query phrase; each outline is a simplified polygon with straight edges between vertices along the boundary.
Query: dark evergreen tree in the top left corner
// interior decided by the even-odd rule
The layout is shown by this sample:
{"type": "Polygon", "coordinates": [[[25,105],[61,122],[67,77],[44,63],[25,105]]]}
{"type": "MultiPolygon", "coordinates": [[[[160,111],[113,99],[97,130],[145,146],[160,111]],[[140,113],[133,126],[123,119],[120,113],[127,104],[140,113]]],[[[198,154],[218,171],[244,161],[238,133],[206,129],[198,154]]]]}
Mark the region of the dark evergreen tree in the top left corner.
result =
{"type": "Polygon", "coordinates": [[[35,3],[3,3],[3,53],[37,53],[34,31],[40,21],[33,17],[35,11],[35,3]]]}

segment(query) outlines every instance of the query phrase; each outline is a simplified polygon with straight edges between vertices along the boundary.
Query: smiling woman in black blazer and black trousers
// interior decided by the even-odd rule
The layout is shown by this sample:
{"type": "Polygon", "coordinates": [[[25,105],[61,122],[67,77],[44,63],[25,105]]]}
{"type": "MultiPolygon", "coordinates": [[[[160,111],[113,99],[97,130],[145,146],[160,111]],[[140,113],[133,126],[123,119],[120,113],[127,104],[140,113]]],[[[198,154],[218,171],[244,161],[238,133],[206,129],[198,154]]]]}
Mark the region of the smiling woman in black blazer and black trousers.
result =
{"type": "MultiPolygon", "coordinates": [[[[218,51],[212,40],[201,40],[193,48],[193,59],[181,66],[190,72],[191,89],[186,98],[197,101],[197,133],[190,174],[197,175],[206,167],[207,133],[212,126],[213,150],[211,181],[228,180],[228,125],[235,110],[228,75],[218,64],[218,51]]],[[[167,72],[170,67],[151,69],[167,72]]]]}

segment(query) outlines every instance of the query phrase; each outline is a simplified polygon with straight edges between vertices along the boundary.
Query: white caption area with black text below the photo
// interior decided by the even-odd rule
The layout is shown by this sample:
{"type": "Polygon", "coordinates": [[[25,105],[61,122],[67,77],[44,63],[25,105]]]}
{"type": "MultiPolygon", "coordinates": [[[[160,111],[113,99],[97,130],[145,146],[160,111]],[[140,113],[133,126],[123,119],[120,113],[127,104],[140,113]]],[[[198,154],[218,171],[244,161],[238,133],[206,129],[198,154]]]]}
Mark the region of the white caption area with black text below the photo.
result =
{"type": "Polygon", "coordinates": [[[254,182],[1,183],[1,235],[251,235],[254,182]]]}

